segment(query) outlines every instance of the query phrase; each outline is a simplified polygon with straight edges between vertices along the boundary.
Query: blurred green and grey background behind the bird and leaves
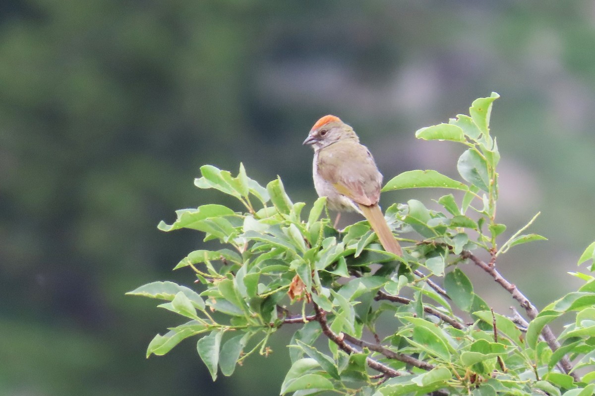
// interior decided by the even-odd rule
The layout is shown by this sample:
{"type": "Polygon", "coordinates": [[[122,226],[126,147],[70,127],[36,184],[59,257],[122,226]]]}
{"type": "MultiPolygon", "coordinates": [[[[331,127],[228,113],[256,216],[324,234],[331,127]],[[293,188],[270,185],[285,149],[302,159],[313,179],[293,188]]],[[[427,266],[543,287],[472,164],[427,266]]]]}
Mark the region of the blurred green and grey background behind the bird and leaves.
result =
{"type": "Polygon", "coordinates": [[[236,205],[193,186],[202,164],[243,161],[311,204],[301,142],[327,113],[355,127],[385,180],[456,176],[462,148],[414,131],[500,93],[500,221],[510,236],[542,211],[533,232],[549,242],[499,268],[543,307],[577,286],[566,271],[595,239],[594,42],[592,1],[0,2],[0,394],[277,395],[291,328],[213,384],[195,339],[145,359],[179,319],[124,293],[192,284],[171,268],[201,236],[156,224],[236,205]]]}

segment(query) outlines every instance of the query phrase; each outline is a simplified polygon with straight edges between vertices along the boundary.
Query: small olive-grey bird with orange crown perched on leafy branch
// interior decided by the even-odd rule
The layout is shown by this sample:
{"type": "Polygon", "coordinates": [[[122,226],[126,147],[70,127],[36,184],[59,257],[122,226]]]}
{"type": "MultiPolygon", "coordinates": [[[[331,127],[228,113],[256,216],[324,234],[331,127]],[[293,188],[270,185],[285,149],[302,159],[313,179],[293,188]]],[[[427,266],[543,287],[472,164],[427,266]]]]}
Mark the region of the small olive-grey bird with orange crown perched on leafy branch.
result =
{"type": "Polygon", "coordinates": [[[353,128],[327,115],[312,126],[303,144],[314,148],[312,176],[318,196],[327,197],[331,210],[361,213],[384,250],[403,256],[378,206],[382,175],[368,148],[359,144],[353,128]]]}

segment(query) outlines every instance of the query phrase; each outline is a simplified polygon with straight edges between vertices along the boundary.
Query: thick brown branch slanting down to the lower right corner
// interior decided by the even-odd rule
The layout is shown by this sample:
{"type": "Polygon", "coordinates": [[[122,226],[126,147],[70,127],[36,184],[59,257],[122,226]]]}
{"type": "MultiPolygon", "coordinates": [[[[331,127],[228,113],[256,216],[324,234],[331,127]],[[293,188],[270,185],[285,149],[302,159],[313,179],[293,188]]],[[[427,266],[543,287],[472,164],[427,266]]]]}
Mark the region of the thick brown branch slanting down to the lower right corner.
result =
{"type": "MultiPolygon", "coordinates": [[[[461,253],[461,257],[464,259],[471,260],[475,265],[480,267],[482,270],[486,271],[486,273],[488,273],[492,278],[494,278],[494,281],[496,281],[496,283],[502,286],[504,290],[511,293],[512,298],[515,299],[521,305],[521,307],[525,309],[525,312],[527,312],[527,316],[531,320],[537,317],[537,315],[539,314],[537,308],[535,308],[531,301],[527,297],[525,297],[524,294],[521,293],[518,287],[506,280],[502,276],[502,274],[500,274],[496,270],[495,265],[487,264],[486,262],[482,261],[480,258],[473,255],[469,251],[463,251],[461,253]]],[[[546,340],[547,345],[549,345],[552,351],[555,351],[560,347],[560,343],[558,343],[558,340],[556,340],[556,336],[553,334],[552,329],[550,329],[549,326],[544,326],[543,330],[541,331],[541,335],[543,335],[544,340],[546,340]]],[[[578,378],[578,375],[576,373],[571,373],[573,367],[568,357],[563,357],[560,360],[560,365],[562,366],[566,374],[571,375],[572,378],[575,379],[575,381],[580,381],[580,378],[578,378]]]]}

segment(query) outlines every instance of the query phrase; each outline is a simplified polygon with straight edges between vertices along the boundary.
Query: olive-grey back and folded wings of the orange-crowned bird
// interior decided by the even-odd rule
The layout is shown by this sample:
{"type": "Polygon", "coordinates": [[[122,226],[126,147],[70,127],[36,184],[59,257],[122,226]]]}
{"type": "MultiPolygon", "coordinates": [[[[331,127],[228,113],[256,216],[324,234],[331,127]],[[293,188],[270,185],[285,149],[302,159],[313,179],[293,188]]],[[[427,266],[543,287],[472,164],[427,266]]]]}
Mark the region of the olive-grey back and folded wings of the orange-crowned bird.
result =
{"type": "Polygon", "coordinates": [[[380,199],[382,175],[368,149],[355,141],[338,141],[318,153],[318,172],[339,194],[358,204],[380,199]]]}

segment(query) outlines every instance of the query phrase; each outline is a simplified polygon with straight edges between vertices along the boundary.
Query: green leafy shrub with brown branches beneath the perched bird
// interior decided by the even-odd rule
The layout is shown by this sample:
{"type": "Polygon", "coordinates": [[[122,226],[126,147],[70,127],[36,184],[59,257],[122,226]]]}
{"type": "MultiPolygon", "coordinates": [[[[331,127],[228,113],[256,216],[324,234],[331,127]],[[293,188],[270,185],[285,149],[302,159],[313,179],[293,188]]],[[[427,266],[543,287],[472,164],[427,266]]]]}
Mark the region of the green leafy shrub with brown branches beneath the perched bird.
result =
{"type": "MultiPolygon", "coordinates": [[[[334,229],[324,197],[305,210],[280,178],[261,186],[241,164],[236,176],[203,166],[195,185],[237,198],[240,209],[206,204],[159,224],[164,231],[198,230],[221,249],[190,252],[176,265],[193,271],[196,288],[154,282],[129,292],[165,300],[160,308],[186,319],[156,335],[147,356],[201,336],[196,348],[215,380],[253,353],[270,354],[270,337],[292,326],[292,367],[281,394],[591,394],[595,385],[587,384],[595,376],[581,379],[574,370],[595,362],[593,277],[576,274],[585,285],[538,313],[495,267],[513,246],[545,239],[524,233],[537,215],[509,235],[496,221],[500,154],[489,123],[497,97],[477,99],[469,115],[416,132],[464,146],[457,162],[464,181],[412,170],[386,183],[383,191],[456,194],[436,200],[441,210],[417,199],[387,209],[402,257],[383,251],[367,221],[334,229]],[[518,312],[494,313],[466,276],[469,263],[505,287],[529,321],[518,312]],[[576,319],[556,340],[547,324],[565,313],[576,319]]],[[[581,261],[593,258],[593,246],[581,261]]]]}

